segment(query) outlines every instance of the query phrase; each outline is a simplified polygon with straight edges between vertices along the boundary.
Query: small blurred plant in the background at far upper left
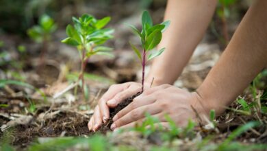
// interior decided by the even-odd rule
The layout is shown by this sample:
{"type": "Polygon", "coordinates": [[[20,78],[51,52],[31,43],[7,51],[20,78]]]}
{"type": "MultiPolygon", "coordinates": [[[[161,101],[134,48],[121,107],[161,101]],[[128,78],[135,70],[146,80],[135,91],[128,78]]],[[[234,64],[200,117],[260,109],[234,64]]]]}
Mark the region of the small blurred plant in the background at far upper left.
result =
{"type": "Polygon", "coordinates": [[[44,56],[47,53],[47,45],[51,39],[51,34],[55,32],[57,25],[50,16],[44,14],[39,19],[39,24],[31,27],[27,30],[29,37],[36,41],[36,43],[42,43],[40,54],[40,65],[42,65],[44,56]]]}

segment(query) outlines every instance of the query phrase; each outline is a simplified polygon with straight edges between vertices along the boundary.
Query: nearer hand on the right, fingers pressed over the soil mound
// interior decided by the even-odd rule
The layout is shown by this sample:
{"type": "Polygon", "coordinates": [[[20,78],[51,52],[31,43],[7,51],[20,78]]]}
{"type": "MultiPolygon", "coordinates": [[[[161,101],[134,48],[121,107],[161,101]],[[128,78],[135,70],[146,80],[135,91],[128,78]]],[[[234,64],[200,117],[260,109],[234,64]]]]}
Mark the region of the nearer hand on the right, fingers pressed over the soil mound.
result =
{"type": "Polygon", "coordinates": [[[190,93],[169,84],[155,86],[144,91],[118,112],[113,118],[111,128],[114,130],[141,124],[146,119],[145,113],[157,117],[164,127],[168,127],[165,115],[169,115],[177,126],[183,127],[188,124],[188,119],[197,121],[197,118],[208,115],[209,108],[203,108],[201,104],[203,100],[197,93],[190,93]]]}

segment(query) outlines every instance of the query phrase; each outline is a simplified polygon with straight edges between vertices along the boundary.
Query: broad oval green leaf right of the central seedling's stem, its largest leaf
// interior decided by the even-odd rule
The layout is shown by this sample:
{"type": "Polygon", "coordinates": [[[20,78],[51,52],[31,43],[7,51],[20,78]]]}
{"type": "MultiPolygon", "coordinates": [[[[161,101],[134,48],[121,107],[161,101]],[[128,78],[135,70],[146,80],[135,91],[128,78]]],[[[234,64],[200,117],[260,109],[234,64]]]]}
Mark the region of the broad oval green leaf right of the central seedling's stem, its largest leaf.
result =
{"type": "Polygon", "coordinates": [[[151,50],[160,43],[160,40],[162,40],[162,32],[160,32],[160,30],[155,30],[147,37],[144,48],[146,51],[151,50]]]}

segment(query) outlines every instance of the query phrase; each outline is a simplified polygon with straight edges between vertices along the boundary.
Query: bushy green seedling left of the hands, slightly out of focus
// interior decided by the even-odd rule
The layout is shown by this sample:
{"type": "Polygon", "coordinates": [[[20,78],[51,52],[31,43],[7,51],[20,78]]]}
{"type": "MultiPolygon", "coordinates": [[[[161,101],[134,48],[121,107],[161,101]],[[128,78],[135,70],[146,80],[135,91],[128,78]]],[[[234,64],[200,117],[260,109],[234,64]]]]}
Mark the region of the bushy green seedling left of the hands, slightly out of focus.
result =
{"type": "Polygon", "coordinates": [[[62,43],[77,47],[81,58],[81,70],[79,73],[79,80],[81,80],[81,91],[85,97],[84,86],[84,69],[86,62],[90,56],[99,54],[112,56],[110,53],[112,48],[101,46],[110,38],[113,38],[114,30],[103,28],[110,22],[110,17],[97,20],[94,16],[84,14],[79,19],[73,17],[73,25],[66,27],[66,34],[68,38],[62,40],[62,43]]]}

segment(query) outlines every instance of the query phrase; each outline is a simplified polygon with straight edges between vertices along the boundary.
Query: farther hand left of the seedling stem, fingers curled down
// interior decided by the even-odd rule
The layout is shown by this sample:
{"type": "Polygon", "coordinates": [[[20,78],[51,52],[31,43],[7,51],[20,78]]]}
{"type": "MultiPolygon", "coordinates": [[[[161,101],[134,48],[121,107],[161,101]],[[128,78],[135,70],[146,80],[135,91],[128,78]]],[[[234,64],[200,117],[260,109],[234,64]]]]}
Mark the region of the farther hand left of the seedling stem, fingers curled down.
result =
{"type": "Polygon", "coordinates": [[[127,99],[127,97],[131,97],[140,91],[142,91],[142,84],[137,82],[126,82],[110,86],[99,100],[98,105],[94,108],[94,115],[92,115],[88,122],[89,130],[97,130],[101,124],[107,121],[106,119],[110,118],[109,108],[115,108],[120,102],[127,99]]]}

